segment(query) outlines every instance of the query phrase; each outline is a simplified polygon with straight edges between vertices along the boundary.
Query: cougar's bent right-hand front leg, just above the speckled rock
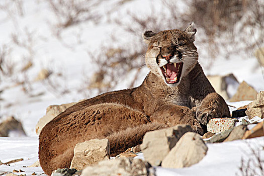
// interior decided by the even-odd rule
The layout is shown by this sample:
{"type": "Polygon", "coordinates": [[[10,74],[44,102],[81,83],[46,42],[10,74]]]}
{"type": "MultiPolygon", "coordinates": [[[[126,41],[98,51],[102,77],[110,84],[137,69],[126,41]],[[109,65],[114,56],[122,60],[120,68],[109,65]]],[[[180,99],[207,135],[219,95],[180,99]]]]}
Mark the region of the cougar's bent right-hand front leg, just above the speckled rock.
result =
{"type": "Polygon", "coordinates": [[[196,118],[202,125],[206,125],[214,117],[230,117],[225,100],[217,93],[207,95],[201,105],[195,109],[196,118]]]}

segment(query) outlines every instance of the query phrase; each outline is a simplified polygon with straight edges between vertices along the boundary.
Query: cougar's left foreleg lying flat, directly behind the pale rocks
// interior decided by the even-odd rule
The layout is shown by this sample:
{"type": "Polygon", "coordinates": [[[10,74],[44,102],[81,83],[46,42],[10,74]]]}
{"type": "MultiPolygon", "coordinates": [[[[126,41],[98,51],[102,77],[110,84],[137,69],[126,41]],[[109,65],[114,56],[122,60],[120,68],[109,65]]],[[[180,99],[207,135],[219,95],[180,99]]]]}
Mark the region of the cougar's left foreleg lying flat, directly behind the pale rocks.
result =
{"type": "Polygon", "coordinates": [[[203,134],[203,129],[190,108],[173,104],[159,107],[151,116],[151,122],[162,123],[168,127],[178,124],[190,125],[194,132],[203,134]]]}

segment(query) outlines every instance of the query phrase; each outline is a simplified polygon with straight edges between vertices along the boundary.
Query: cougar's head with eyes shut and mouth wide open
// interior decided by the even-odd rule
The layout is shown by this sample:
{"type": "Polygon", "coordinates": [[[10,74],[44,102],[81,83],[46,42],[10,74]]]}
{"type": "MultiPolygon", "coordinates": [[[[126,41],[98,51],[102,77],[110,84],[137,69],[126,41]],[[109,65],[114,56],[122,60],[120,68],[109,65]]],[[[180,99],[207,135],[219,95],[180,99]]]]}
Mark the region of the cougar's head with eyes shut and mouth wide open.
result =
{"type": "Polygon", "coordinates": [[[159,33],[145,31],[143,34],[148,44],[145,56],[147,67],[170,87],[180,84],[198,61],[195,33],[192,23],[185,31],[173,29],[159,33]]]}

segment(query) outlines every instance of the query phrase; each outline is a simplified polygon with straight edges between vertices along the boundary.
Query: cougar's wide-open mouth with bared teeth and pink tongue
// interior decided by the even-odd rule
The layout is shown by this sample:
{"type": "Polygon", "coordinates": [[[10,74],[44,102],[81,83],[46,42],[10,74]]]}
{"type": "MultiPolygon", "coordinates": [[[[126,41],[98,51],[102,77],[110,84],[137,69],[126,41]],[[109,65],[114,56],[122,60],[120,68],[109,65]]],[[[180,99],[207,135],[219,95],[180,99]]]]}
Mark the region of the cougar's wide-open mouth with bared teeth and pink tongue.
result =
{"type": "Polygon", "coordinates": [[[173,84],[180,81],[183,64],[183,62],[167,63],[166,65],[160,67],[166,83],[173,84]]]}

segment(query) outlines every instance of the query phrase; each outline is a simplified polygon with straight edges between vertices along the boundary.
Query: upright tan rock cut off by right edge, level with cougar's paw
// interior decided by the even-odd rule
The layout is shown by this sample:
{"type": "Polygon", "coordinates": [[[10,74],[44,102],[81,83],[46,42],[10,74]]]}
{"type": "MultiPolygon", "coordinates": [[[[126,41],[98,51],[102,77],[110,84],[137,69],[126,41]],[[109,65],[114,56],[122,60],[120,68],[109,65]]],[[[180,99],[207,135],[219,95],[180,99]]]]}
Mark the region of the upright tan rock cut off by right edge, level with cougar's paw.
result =
{"type": "Polygon", "coordinates": [[[247,106],[247,111],[245,113],[249,119],[252,119],[255,116],[258,116],[261,119],[264,118],[264,91],[260,91],[257,94],[256,100],[247,106]]]}

